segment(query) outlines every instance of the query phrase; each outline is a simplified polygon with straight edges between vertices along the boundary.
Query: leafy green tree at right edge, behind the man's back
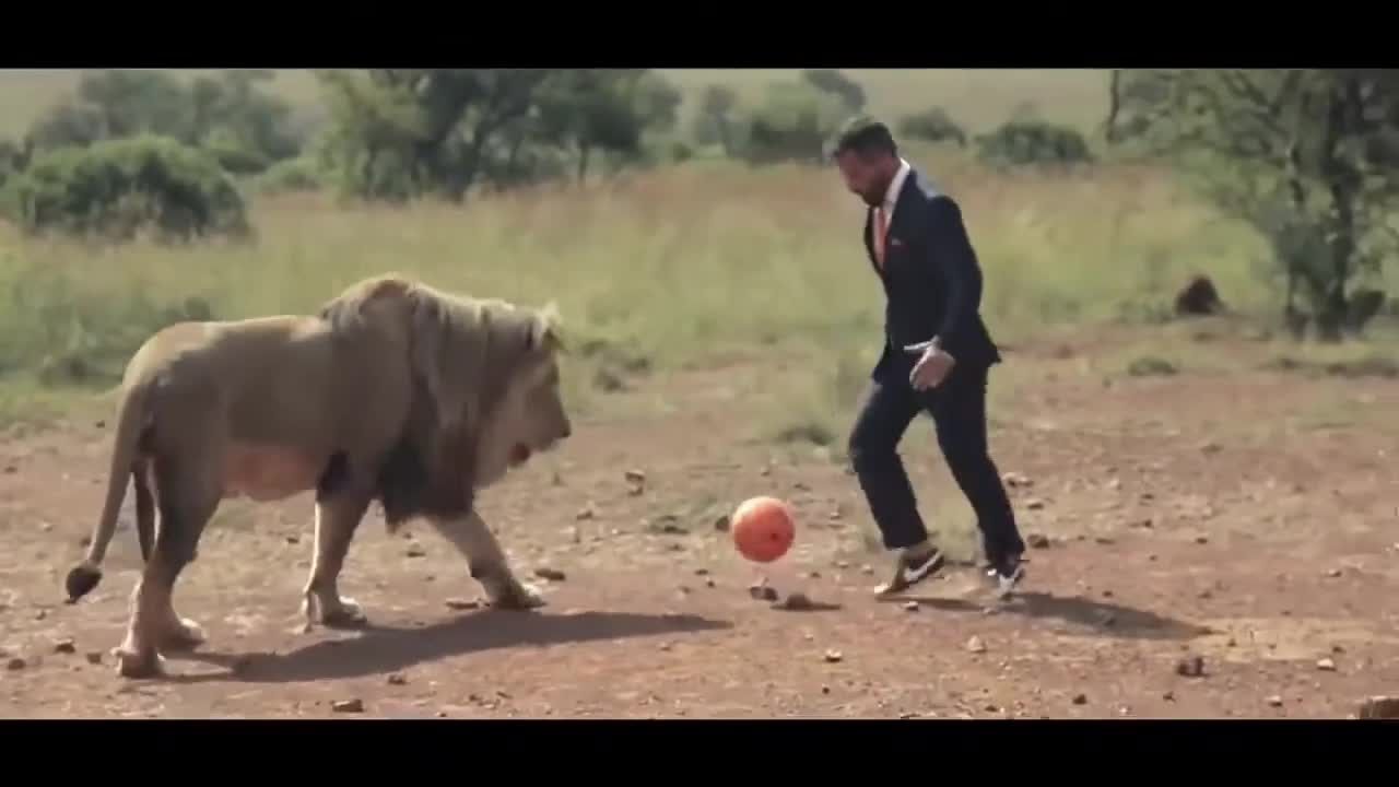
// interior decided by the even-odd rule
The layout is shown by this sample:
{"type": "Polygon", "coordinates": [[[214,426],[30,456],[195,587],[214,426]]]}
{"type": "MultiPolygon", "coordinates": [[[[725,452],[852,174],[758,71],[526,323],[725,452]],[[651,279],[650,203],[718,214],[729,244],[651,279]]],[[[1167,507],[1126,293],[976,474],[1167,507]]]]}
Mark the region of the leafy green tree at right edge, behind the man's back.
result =
{"type": "Polygon", "coordinates": [[[1121,139],[1186,167],[1270,241],[1290,325],[1325,340],[1363,328],[1351,286],[1399,248],[1399,74],[1128,70],[1118,119],[1121,139]]]}

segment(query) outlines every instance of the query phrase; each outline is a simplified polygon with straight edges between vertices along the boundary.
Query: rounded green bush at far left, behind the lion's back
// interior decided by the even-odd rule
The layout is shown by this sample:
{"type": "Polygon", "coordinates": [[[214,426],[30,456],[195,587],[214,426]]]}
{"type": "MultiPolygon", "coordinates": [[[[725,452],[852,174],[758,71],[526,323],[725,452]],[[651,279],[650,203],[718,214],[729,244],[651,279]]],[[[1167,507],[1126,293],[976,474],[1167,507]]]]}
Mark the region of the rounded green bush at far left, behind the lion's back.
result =
{"type": "Polygon", "coordinates": [[[250,232],[242,196],[218,161],[148,134],[39,153],[6,183],[0,209],[28,232],[109,239],[250,232]]]}

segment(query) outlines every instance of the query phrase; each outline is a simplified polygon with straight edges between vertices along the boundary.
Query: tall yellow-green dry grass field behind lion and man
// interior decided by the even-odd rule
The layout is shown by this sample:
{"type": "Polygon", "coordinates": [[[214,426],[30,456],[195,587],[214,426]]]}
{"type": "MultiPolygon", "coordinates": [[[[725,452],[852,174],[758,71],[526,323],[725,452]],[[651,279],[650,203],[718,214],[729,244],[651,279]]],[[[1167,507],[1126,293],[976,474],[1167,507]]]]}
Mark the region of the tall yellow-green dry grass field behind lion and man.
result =
{"type": "MultiPolygon", "coordinates": [[[[1003,342],[1157,314],[1198,270],[1235,308],[1273,308],[1254,276],[1260,242],[1158,172],[1007,175],[947,153],[914,157],[964,204],[986,273],[983,312],[1003,342]]],[[[295,196],[253,210],[259,241],[241,246],[92,248],[0,225],[0,410],[42,398],[41,378],[109,385],[189,298],[227,318],[304,312],[385,270],[557,300],[588,349],[568,377],[581,409],[604,405],[638,367],[781,347],[803,394],[769,394],[760,431],[835,451],[879,349],[881,294],[859,241],[862,209],[831,171],[694,162],[460,207],[295,196]]]]}

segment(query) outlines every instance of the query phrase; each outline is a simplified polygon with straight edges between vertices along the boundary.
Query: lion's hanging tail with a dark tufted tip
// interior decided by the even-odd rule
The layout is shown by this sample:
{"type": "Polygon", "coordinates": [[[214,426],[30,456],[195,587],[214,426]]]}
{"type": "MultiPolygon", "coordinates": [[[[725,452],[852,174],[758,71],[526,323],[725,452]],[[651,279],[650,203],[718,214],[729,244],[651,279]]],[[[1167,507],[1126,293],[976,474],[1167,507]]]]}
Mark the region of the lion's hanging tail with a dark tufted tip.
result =
{"type": "Polygon", "coordinates": [[[145,489],[145,469],[137,466],[136,457],[141,433],[145,430],[145,396],[147,386],[140,382],[132,385],[122,395],[112,447],[112,466],[106,476],[106,501],[102,504],[102,518],[98,520],[97,528],[92,531],[87,557],[69,571],[66,583],[69,604],[77,602],[102,580],[102,559],[106,556],[106,548],[116,532],[116,515],[126,499],[129,480],[137,485],[137,534],[141,541],[141,556],[145,557],[148,553],[151,538],[148,531],[151,531],[154,513],[150,504],[150,490],[145,489]]]}

